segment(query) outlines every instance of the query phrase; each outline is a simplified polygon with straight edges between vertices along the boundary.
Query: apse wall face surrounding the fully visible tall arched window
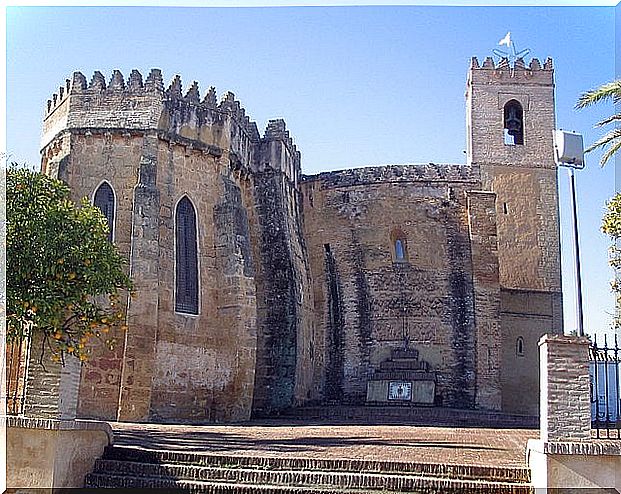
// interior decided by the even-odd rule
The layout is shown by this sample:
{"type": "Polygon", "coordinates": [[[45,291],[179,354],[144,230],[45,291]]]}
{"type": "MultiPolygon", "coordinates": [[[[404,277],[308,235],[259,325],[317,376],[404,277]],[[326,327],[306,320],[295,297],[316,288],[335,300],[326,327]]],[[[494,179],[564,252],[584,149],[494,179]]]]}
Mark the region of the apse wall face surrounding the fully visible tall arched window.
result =
{"type": "MultiPolygon", "coordinates": [[[[158,330],[151,418],[249,416],[254,381],[254,262],[240,185],[216,159],[160,143],[158,330]],[[187,196],[197,216],[199,313],[174,310],[174,215],[187,196]]],[[[226,163],[226,161],[225,161],[226,163]]]]}

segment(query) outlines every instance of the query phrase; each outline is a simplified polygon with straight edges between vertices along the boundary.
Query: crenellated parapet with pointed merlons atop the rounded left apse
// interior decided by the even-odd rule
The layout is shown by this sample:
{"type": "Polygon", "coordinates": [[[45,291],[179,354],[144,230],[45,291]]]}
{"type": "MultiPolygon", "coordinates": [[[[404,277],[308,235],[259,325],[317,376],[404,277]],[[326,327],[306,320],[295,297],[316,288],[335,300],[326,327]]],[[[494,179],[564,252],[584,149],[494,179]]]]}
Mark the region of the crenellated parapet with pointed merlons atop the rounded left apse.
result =
{"type": "Polygon", "coordinates": [[[47,102],[41,147],[60,132],[71,129],[102,132],[157,132],[164,138],[190,143],[197,148],[230,151],[235,161],[249,166],[260,135],[233,93],[218,103],[213,87],[200,100],[198,83],[183,95],[176,76],[164,89],[162,73],[152,69],[143,77],[133,70],[127,80],[115,70],[106,84],[96,71],[90,83],[75,72],[47,102]]]}

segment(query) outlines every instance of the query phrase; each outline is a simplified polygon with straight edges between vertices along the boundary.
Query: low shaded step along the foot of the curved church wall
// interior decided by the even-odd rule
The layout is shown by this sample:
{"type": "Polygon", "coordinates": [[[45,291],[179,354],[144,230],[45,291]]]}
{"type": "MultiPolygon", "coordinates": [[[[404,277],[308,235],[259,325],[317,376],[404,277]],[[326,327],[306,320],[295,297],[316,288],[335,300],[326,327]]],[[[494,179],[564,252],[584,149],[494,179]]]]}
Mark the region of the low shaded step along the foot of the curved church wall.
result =
{"type": "Polygon", "coordinates": [[[390,405],[339,405],[291,408],[281,414],[287,419],[306,423],[407,424],[451,427],[490,427],[537,429],[539,417],[483,410],[415,406],[407,403],[390,405]]]}

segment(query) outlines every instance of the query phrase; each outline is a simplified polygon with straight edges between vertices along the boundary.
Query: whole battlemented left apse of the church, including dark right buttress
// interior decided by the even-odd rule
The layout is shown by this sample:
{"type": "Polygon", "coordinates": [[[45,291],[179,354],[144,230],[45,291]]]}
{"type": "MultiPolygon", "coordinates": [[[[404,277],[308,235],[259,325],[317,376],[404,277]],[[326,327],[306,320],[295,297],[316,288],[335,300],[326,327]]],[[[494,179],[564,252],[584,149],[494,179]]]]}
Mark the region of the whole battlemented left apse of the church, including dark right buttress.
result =
{"type": "Polygon", "coordinates": [[[261,139],[231,93],[201,101],[194,83],[184,96],[179,77],[165,90],[157,69],[144,83],[76,73],[48,105],[42,154],[76,199],[113,188],[114,242],[136,288],[127,333],[84,368],[82,416],[240,420],[253,397],[260,412],[318,394],[300,153],[283,121],[261,139]],[[184,196],[198,223],[197,315],[174,310],[184,196]]]}

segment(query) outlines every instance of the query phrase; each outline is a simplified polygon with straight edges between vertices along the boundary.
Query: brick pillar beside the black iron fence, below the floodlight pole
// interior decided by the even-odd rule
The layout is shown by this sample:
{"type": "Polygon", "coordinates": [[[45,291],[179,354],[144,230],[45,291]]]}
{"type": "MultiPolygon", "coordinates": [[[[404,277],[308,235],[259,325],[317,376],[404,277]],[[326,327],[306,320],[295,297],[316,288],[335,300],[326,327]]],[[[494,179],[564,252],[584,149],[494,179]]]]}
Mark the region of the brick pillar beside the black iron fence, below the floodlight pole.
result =
{"type": "Polygon", "coordinates": [[[544,335],[539,340],[541,440],[591,438],[589,341],[544,335]]]}

